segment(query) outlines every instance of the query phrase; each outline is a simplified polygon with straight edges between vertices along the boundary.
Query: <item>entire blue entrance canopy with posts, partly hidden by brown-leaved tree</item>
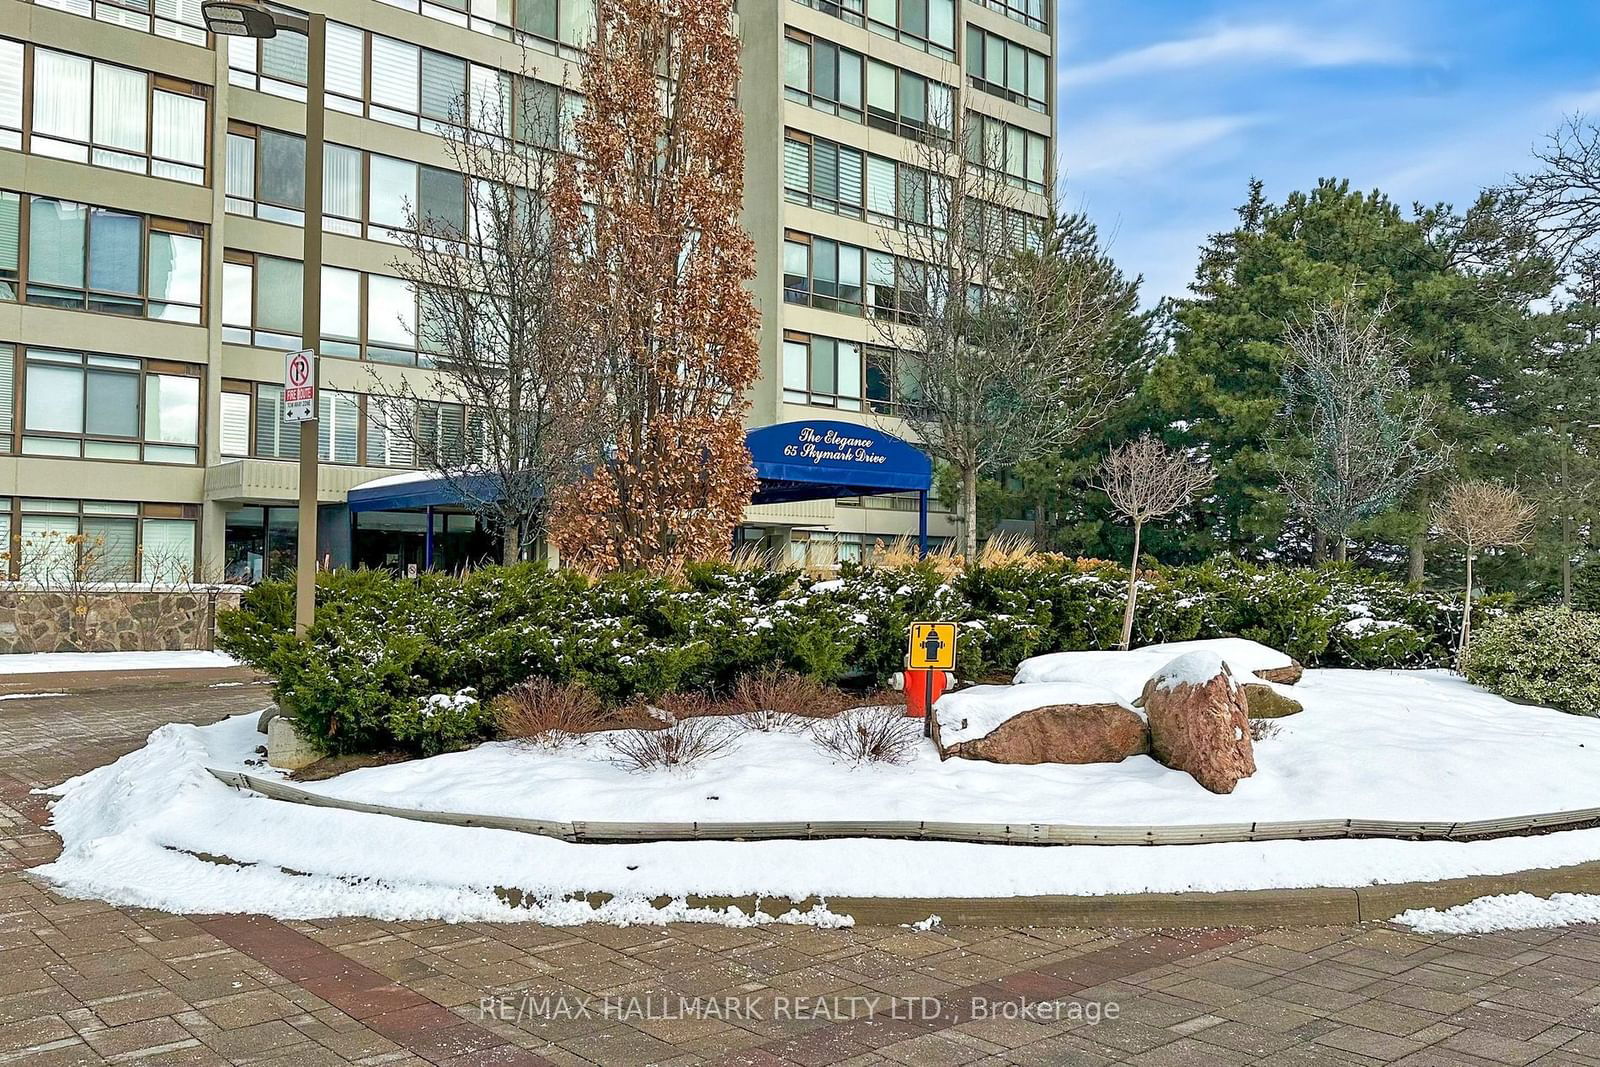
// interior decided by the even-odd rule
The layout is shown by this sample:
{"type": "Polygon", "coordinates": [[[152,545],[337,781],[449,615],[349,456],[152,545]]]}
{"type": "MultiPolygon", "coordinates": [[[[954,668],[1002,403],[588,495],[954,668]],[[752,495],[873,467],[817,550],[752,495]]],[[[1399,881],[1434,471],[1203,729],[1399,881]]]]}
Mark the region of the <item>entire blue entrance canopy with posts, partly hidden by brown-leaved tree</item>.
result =
{"type": "MultiPolygon", "coordinates": [[[[762,426],[747,432],[744,443],[760,480],[752,504],[915,493],[917,537],[926,552],[933,462],[915,445],[869,426],[834,419],[762,426]]],[[[432,512],[435,507],[459,507],[464,480],[472,482],[469,491],[477,499],[496,496],[498,475],[493,474],[445,478],[418,470],[358,485],[347,501],[352,514],[424,509],[429,515],[426,555],[432,560],[432,512]]]]}

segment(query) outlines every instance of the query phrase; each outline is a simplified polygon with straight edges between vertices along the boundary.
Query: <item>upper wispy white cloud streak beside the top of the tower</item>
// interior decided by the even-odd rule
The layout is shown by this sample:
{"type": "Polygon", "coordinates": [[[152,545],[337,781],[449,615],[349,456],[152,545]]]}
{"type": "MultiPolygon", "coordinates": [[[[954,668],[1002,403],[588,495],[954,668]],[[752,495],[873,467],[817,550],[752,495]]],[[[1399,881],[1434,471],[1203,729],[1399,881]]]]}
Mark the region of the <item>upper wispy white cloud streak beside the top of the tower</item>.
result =
{"type": "Polygon", "coordinates": [[[1395,42],[1330,34],[1277,22],[1222,26],[1197,37],[1166,40],[1086,64],[1062,64],[1062,85],[1090,85],[1163,70],[1190,70],[1226,62],[1275,67],[1349,67],[1403,64],[1410,50],[1395,42]]]}

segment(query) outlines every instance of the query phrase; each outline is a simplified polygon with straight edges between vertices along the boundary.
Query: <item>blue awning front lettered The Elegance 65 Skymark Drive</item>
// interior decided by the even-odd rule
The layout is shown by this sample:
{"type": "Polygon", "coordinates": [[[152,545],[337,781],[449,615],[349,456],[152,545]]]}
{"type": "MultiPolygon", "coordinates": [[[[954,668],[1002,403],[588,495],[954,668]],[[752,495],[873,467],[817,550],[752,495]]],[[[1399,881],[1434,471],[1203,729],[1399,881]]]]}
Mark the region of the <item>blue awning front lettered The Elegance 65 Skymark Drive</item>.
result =
{"type": "Polygon", "coordinates": [[[752,504],[926,493],[933,461],[893,434],[832,419],[763,426],[744,435],[762,480],[752,504]]]}

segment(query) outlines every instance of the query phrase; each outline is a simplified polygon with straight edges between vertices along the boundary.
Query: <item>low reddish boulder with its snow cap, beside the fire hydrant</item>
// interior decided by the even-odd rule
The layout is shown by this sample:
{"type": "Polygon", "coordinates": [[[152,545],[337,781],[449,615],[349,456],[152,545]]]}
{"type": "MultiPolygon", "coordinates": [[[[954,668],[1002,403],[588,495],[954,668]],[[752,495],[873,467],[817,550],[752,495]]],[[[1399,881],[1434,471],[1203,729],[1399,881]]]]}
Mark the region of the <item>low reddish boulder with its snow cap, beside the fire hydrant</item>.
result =
{"type": "Polygon", "coordinates": [[[941,758],[995,763],[1115,763],[1150,750],[1144,718],[1083,683],[974,685],[933,707],[941,758]]]}

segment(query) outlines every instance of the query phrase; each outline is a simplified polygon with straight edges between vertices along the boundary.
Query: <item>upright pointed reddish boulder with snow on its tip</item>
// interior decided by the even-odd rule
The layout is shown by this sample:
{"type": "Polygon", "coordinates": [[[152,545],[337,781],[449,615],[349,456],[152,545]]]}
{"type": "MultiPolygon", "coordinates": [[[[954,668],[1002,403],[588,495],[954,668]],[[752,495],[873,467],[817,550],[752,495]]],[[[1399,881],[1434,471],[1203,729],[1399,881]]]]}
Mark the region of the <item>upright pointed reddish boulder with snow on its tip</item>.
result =
{"type": "Polygon", "coordinates": [[[1144,686],[1152,755],[1187,771],[1213,793],[1230,793],[1256,773],[1250,707],[1234,672],[1214,651],[1171,661],[1144,686]]]}

